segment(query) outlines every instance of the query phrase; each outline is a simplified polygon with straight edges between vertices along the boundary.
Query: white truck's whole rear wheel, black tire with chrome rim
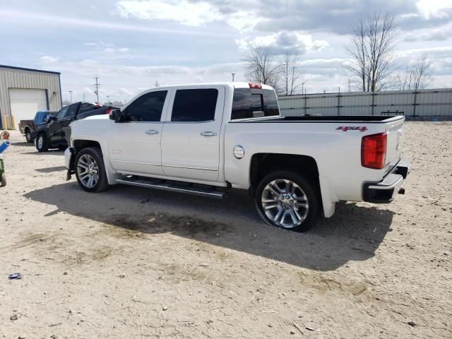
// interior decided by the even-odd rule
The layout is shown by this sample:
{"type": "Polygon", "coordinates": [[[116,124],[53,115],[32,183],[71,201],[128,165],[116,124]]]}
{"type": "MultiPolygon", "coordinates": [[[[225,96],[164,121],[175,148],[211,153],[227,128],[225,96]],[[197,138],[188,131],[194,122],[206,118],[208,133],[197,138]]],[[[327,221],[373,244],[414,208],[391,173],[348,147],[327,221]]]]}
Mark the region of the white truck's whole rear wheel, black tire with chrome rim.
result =
{"type": "MultiPolygon", "coordinates": [[[[279,192],[278,188],[275,190],[276,192],[279,192]]],[[[256,191],[254,192],[254,202],[256,204],[258,214],[268,225],[285,228],[295,232],[304,232],[309,230],[310,227],[316,224],[321,211],[319,189],[317,189],[317,185],[314,180],[309,177],[302,177],[302,175],[289,171],[273,172],[261,179],[261,182],[258,183],[256,191]],[[286,188],[281,189],[281,193],[278,196],[272,193],[270,189],[266,189],[267,185],[272,182],[275,182],[272,187],[274,187],[275,184],[276,186],[283,186],[285,185],[285,182],[283,181],[294,183],[294,185],[292,185],[295,187],[293,194],[295,194],[294,196],[297,196],[296,198],[293,198],[290,192],[285,192],[286,188]],[[265,194],[264,189],[266,190],[265,194]],[[267,197],[268,194],[271,194],[271,196],[267,197]],[[281,196],[282,198],[280,198],[281,196]],[[267,210],[265,210],[263,206],[263,200],[268,202],[267,210]],[[275,203],[273,203],[273,201],[275,201],[275,203]],[[299,203],[297,203],[297,201],[299,201],[299,203]],[[302,204],[306,204],[305,201],[307,201],[307,206],[302,206],[302,204]],[[287,208],[287,214],[285,208],[287,208]],[[278,213],[283,213],[283,216],[279,222],[275,222],[275,220],[279,219],[278,213]],[[293,218],[297,219],[299,224],[295,224],[295,221],[293,221],[294,219],[290,213],[295,215],[293,218]],[[274,218],[270,218],[268,214],[274,218]],[[287,219],[289,222],[286,223],[285,221],[287,219]],[[292,224],[295,225],[289,225],[291,220],[292,224]]]]}

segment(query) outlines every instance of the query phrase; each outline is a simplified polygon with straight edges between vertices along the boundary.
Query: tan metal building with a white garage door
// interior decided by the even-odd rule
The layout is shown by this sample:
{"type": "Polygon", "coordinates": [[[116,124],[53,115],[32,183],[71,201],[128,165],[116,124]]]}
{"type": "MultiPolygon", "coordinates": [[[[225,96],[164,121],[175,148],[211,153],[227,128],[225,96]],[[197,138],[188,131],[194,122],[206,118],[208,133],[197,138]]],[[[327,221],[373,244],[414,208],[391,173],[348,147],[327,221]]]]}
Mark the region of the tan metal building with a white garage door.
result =
{"type": "Polygon", "coordinates": [[[0,65],[0,128],[17,129],[46,109],[61,109],[59,72],[0,65]]]}

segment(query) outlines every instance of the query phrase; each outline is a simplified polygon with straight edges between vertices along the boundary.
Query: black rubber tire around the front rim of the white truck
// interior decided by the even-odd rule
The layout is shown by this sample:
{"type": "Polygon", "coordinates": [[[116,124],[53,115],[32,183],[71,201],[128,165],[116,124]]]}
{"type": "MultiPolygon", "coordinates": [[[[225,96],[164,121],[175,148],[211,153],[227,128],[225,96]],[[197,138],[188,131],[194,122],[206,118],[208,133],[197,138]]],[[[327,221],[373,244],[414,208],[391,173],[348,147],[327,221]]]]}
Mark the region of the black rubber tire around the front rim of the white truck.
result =
{"type": "MultiPolygon", "coordinates": [[[[107,180],[107,173],[105,172],[105,165],[104,165],[104,159],[102,157],[102,151],[98,147],[89,147],[89,148],[83,148],[80,152],[76,155],[76,161],[74,162],[74,169],[76,172],[76,178],[78,184],[81,186],[82,189],[84,189],[87,192],[95,193],[95,192],[102,192],[108,189],[109,184],[107,180]],[[81,167],[81,158],[83,160],[84,156],[91,157],[93,161],[95,162],[95,169],[97,169],[97,172],[95,174],[98,175],[98,179],[95,182],[94,186],[90,187],[87,186],[84,182],[84,178],[80,177],[79,174],[83,174],[81,172],[84,168],[81,167]]],[[[87,169],[88,170],[88,169],[87,169]]]]}

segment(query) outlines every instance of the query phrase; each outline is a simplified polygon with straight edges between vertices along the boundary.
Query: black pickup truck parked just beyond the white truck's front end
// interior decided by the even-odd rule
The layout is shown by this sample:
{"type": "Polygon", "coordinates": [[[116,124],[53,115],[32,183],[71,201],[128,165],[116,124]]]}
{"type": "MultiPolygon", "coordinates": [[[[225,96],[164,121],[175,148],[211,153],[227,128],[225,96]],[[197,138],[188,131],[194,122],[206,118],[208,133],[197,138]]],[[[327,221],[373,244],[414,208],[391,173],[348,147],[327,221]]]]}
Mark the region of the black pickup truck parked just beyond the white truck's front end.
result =
{"type": "Polygon", "coordinates": [[[36,149],[45,152],[49,148],[67,147],[66,131],[74,120],[84,119],[97,114],[109,114],[116,107],[93,104],[90,102],[76,102],[66,106],[49,117],[47,124],[35,126],[36,149]]]}

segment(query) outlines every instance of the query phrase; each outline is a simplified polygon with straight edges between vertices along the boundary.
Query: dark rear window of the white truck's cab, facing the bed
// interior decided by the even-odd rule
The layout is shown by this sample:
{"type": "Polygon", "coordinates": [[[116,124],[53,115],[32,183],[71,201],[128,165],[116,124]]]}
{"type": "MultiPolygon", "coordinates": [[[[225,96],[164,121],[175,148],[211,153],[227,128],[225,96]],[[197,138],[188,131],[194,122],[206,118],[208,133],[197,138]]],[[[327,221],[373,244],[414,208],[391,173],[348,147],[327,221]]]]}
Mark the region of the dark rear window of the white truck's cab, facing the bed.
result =
{"type": "Polygon", "coordinates": [[[274,90],[235,88],[231,120],[278,117],[280,109],[274,90]]]}

